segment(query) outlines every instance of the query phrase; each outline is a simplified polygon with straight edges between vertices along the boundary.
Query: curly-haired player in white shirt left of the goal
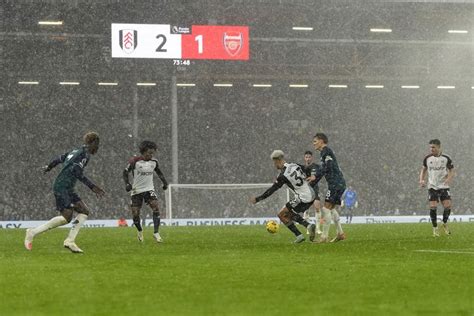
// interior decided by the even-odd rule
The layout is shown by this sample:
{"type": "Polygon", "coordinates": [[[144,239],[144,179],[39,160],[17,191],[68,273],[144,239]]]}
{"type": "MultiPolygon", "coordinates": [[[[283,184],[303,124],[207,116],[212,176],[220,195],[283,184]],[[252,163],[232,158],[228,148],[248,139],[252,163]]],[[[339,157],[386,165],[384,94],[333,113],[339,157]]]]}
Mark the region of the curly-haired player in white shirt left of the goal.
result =
{"type": "Polygon", "coordinates": [[[157,146],[154,142],[143,141],[140,144],[140,156],[131,158],[127,167],[123,171],[123,179],[125,181],[125,189],[130,192],[132,196],[132,216],[133,224],[138,230],[138,240],[143,241],[143,228],[140,223],[140,210],[143,201],[150,206],[153,211],[153,237],[157,242],[163,242],[160,229],[160,210],[158,207],[158,199],[156,197],[155,188],[153,185],[153,174],[156,172],[161,182],[163,183],[163,190],[168,189],[168,182],[165,176],[158,167],[158,160],[153,158],[156,153],[157,146]],[[133,175],[133,184],[130,183],[128,174],[133,175]]]}

